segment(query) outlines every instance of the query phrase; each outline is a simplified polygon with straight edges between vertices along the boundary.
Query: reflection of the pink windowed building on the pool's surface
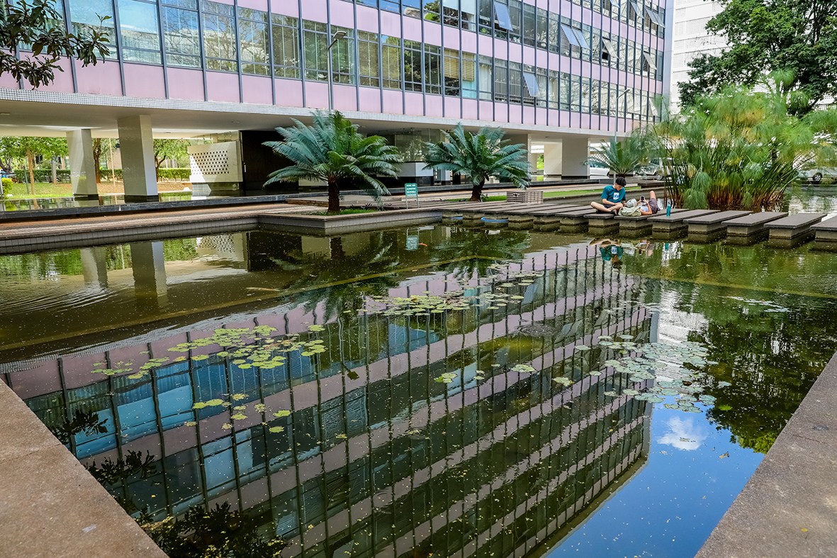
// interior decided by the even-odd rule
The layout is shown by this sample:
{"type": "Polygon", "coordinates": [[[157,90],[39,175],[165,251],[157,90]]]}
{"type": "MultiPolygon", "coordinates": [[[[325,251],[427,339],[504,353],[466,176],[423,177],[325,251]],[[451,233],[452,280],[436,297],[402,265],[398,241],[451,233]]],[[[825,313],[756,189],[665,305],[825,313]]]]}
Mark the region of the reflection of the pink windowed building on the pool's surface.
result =
{"type": "MultiPolygon", "coordinates": [[[[306,331],[318,318],[299,308],[226,324],[301,332],[328,348],[290,354],[275,369],[243,369],[216,345],[193,349],[208,359],[141,379],[90,374],[98,362],[138,366],[212,334],[157,332],[6,380],[48,426],[78,410],[107,419],[105,434],[71,438],[83,462],[157,457],[157,473],[111,489],[158,517],[229,501],[291,540],[287,555],[540,555],[635,470],[648,440],[646,404],[605,396],[626,380],[588,375],[602,366],[574,346],[599,334],[647,337],[650,315],[624,304],[641,284],[613,273],[598,251],[552,251],[520,266],[537,271],[535,281],[516,287],[519,304],[493,310],[341,318],[321,332],[306,331]],[[452,383],[434,381],[446,373],[452,383]],[[552,380],[560,375],[573,385],[552,380]],[[193,410],[229,394],[290,416],[264,425],[255,413],[233,421],[220,406],[193,410]]],[[[454,288],[439,276],[391,294],[454,288]]]]}

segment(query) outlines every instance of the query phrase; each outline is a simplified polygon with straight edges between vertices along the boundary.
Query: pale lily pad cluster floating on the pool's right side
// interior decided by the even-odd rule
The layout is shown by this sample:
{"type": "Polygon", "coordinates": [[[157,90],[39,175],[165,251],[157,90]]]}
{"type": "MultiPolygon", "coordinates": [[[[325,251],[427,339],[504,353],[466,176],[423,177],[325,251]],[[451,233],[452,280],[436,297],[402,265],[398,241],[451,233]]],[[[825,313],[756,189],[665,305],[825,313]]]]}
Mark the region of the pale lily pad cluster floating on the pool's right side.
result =
{"type": "MultiPolygon", "coordinates": [[[[700,401],[706,405],[715,403],[715,397],[704,395],[701,380],[706,373],[701,368],[706,364],[718,364],[707,360],[708,350],[699,343],[685,341],[680,344],[670,345],[662,343],[636,344],[630,335],[619,336],[619,341],[614,341],[609,335],[599,337],[599,346],[610,354],[613,359],[604,361],[604,365],[612,367],[616,372],[628,375],[628,380],[639,383],[644,380],[654,380],[664,370],[667,375],[680,376],[675,380],[660,380],[653,387],[643,392],[634,389],[624,389],[621,392],[606,391],[604,395],[618,397],[629,395],[636,400],[644,400],[649,403],[662,403],[664,396],[678,396],[676,403],[667,403],[665,408],[678,409],[686,412],[700,412],[695,403],[700,401]],[[672,366],[674,369],[672,370],[672,366]],[[684,368],[685,367],[685,368],[684,368]]],[[[582,351],[590,350],[586,345],[576,345],[576,349],[582,351]]],[[[601,375],[602,371],[593,371],[590,375],[601,375]]],[[[723,387],[720,382],[719,387],[723,387]]]]}

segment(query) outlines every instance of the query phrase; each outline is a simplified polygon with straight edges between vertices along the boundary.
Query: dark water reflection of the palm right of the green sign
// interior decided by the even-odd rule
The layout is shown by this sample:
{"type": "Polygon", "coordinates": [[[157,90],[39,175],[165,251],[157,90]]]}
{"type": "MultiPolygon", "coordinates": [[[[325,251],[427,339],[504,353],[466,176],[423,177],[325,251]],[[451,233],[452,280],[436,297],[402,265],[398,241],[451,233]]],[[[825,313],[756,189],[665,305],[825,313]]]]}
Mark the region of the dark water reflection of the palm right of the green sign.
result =
{"type": "Polygon", "coordinates": [[[475,273],[487,275],[495,261],[520,259],[529,244],[529,234],[524,230],[501,230],[490,235],[485,229],[451,227],[449,238],[436,246],[433,261],[458,280],[468,280],[475,273]],[[469,259],[461,260],[463,257],[469,259]]]}

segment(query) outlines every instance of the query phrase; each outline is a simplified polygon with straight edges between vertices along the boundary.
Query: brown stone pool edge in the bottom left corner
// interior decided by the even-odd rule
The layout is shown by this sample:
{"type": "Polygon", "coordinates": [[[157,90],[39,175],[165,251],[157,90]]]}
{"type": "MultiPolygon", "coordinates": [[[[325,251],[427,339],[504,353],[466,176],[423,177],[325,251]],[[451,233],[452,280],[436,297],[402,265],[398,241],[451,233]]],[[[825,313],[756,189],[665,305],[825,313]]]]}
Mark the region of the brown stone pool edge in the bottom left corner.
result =
{"type": "Polygon", "coordinates": [[[0,555],[166,558],[3,381],[0,408],[0,555]]]}

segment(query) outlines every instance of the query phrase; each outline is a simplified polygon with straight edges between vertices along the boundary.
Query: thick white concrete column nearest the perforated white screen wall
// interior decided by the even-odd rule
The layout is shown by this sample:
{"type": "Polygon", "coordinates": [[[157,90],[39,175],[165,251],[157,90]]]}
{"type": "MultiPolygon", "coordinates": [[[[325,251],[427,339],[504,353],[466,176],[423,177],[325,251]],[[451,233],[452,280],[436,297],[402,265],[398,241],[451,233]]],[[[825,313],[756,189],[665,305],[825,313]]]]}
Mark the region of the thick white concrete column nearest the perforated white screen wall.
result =
{"type": "Polygon", "coordinates": [[[116,121],[122,156],[122,180],[126,201],[149,201],[157,198],[157,173],[154,169],[154,139],[151,116],[126,116],[116,121]]]}

